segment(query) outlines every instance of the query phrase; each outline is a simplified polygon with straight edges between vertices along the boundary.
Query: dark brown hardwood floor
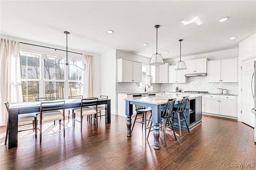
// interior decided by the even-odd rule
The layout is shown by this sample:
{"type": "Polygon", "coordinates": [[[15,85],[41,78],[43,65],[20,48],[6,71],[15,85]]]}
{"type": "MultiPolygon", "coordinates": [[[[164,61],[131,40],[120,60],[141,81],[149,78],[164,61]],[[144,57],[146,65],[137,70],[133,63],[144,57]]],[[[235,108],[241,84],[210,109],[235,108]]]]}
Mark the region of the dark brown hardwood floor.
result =
{"type": "MultiPolygon", "coordinates": [[[[134,117],[133,117],[134,118],[134,117]]],[[[153,132],[145,140],[141,124],[126,136],[126,118],[111,116],[111,124],[99,119],[98,129],[86,119],[66,125],[66,136],[52,122],[43,125],[42,144],[34,132],[18,133],[18,148],[4,145],[0,127],[0,169],[253,169],[256,163],[254,129],[233,119],[203,115],[203,123],[177,141],[168,131],[167,148],[160,132],[160,149],[154,150],[153,132]],[[245,163],[244,165],[242,163],[245,163]],[[234,166],[238,167],[232,167],[234,166]],[[251,167],[248,167],[251,166],[251,167]]],[[[67,122],[67,120],[66,120],[67,122]]],[[[26,126],[26,128],[28,128],[26,126]]]]}

